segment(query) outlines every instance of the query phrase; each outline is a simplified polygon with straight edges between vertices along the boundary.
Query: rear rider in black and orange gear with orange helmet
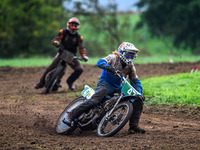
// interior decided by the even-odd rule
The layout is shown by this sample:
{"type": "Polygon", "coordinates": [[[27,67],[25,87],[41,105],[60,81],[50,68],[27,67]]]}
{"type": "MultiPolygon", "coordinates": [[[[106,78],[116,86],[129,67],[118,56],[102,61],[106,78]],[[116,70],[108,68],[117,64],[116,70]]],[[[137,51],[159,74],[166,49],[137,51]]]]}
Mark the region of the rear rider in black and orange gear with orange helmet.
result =
{"type": "MultiPolygon", "coordinates": [[[[86,55],[86,49],[83,45],[83,37],[78,34],[78,30],[80,28],[80,22],[76,17],[73,17],[68,20],[67,22],[67,29],[61,29],[58,35],[52,40],[52,45],[55,47],[60,47],[60,45],[63,46],[64,50],[70,51],[76,56],[77,53],[77,47],[79,47],[79,53],[82,56],[82,59],[84,61],[88,61],[88,57],[86,55]]],[[[46,71],[43,73],[42,77],[40,78],[40,82],[34,85],[35,89],[43,88],[45,85],[45,77],[46,75],[55,69],[57,65],[59,64],[61,60],[61,54],[63,52],[63,49],[59,48],[58,53],[56,57],[54,58],[51,65],[46,69],[46,71]]],[[[83,72],[83,66],[81,63],[74,58],[72,63],[69,64],[70,67],[74,70],[74,72],[69,76],[67,79],[67,84],[69,86],[70,90],[74,90],[73,83],[79,78],[79,76],[83,72]]],[[[64,73],[63,73],[64,75],[64,73]]],[[[60,79],[61,80],[61,79],[60,79]]],[[[60,81],[59,81],[60,82],[60,81]]],[[[53,88],[53,91],[57,91],[60,87],[59,83],[56,87],[53,88]]]]}

